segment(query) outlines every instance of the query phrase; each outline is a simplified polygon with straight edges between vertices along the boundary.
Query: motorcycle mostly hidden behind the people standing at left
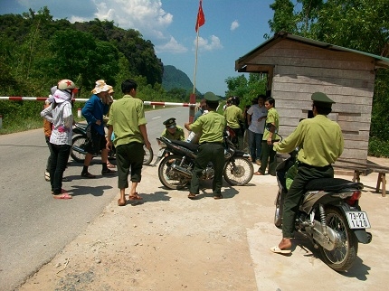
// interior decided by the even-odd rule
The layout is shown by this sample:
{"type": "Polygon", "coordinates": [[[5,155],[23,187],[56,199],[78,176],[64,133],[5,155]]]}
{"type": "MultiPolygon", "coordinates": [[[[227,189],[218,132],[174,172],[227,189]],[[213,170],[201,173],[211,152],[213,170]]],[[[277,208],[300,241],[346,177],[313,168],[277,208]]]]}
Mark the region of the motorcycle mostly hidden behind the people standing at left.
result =
{"type": "MultiPolygon", "coordinates": [[[[90,126],[84,123],[76,123],[73,127],[73,136],[71,137],[71,158],[78,163],[83,163],[87,154],[85,148],[89,143],[91,143],[90,126]]],[[[154,158],[153,149],[147,149],[146,146],[143,146],[143,150],[145,152],[143,164],[150,164],[154,158]]],[[[109,150],[108,158],[114,159],[115,155],[115,146],[112,146],[112,149],[109,150]]]]}

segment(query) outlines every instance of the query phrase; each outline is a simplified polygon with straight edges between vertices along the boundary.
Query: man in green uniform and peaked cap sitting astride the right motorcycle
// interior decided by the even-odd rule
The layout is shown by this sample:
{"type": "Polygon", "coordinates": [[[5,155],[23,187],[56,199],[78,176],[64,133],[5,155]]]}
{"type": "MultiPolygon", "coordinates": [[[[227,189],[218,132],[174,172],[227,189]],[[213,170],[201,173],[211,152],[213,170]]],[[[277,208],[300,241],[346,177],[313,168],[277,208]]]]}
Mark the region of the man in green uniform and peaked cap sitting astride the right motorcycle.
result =
{"type": "Polygon", "coordinates": [[[275,253],[290,253],[294,221],[306,184],[312,179],[334,177],[332,164],[343,152],[342,130],[336,122],[327,118],[335,102],[320,92],[313,93],[311,99],[314,117],[300,121],[290,136],[273,146],[280,153],[289,153],[298,146],[300,148],[298,172],[283,205],[282,239],[277,247],[270,249],[275,253]]]}

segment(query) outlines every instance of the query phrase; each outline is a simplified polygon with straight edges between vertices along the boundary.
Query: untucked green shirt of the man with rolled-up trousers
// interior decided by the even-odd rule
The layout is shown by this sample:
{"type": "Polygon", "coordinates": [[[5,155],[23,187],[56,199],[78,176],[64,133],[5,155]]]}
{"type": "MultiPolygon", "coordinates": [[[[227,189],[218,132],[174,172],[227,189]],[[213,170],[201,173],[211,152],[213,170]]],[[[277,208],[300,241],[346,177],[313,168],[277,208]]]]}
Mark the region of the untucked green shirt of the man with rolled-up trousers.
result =
{"type": "Polygon", "coordinates": [[[131,95],[125,95],[122,99],[113,102],[110,106],[107,124],[113,127],[115,133],[114,146],[127,145],[132,142],[143,144],[143,136],[139,130],[139,126],[147,124],[143,101],[131,95]]]}

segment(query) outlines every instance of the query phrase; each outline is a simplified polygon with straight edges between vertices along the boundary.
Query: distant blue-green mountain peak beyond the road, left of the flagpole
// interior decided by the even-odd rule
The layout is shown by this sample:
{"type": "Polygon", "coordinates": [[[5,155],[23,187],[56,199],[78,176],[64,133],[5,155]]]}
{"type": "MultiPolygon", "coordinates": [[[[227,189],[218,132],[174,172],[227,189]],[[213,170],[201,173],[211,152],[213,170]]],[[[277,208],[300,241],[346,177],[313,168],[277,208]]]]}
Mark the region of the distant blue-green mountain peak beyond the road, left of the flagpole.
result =
{"type": "MultiPolygon", "coordinates": [[[[185,89],[187,93],[192,93],[194,84],[185,74],[184,71],[176,69],[175,66],[164,66],[164,73],[162,75],[162,87],[166,91],[172,89],[185,89]]],[[[202,95],[197,89],[195,89],[197,96],[202,95]]]]}

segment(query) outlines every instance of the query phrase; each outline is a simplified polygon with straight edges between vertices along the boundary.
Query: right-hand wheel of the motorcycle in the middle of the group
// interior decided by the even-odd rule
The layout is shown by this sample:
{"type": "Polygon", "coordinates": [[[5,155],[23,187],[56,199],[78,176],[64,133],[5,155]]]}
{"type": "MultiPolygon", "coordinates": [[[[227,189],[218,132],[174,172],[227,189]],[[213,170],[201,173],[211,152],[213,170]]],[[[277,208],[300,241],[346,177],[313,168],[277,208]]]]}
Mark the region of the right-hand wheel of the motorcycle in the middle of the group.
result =
{"type": "Polygon", "coordinates": [[[242,156],[235,156],[224,166],[224,179],[232,186],[249,183],[253,174],[254,167],[251,161],[242,156]]]}

